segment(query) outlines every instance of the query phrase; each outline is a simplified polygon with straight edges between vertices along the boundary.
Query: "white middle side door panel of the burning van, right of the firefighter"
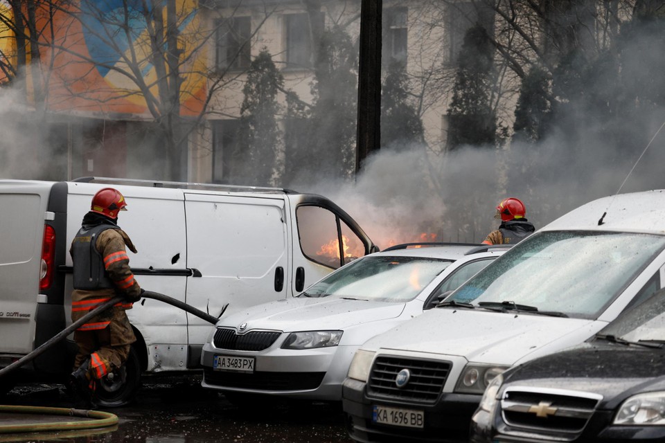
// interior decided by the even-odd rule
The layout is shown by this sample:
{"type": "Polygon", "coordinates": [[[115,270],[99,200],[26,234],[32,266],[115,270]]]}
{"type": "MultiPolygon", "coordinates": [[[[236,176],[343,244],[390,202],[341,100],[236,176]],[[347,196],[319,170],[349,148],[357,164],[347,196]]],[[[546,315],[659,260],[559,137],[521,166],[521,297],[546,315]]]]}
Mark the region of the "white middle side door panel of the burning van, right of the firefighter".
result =
{"type": "MultiPolygon", "coordinates": [[[[289,243],[283,195],[185,194],[186,302],[218,317],[285,298],[289,243]],[[197,276],[199,275],[199,276],[197,276]]],[[[203,345],[210,323],[188,316],[190,345],[203,345]]]]}

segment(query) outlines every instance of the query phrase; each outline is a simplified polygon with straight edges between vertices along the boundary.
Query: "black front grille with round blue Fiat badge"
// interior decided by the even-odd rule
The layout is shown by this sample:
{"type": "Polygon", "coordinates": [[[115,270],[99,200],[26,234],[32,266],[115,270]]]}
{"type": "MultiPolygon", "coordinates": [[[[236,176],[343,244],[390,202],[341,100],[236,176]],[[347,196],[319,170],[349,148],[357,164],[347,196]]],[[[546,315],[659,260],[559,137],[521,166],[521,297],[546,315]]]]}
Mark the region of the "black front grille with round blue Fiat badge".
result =
{"type": "Polygon", "coordinates": [[[378,356],[369,376],[367,394],[384,399],[434,403],[443,390],[451,365],[448,361],[378,356]],[[411,376],[406,386],[398,388],[395,380],[403,369],[409,370],[411,376]]]}

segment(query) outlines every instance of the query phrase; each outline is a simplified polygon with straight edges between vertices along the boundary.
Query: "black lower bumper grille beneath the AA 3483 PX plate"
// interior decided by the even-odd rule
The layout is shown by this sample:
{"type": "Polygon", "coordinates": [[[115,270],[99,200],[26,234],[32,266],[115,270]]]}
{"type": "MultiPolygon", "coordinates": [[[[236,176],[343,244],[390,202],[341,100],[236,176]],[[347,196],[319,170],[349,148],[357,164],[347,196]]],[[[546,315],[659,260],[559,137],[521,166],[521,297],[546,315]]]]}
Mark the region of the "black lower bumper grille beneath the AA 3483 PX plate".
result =
{"type": "Polygon", "coordinates": [[[251,390],[310,390],[321,384],[326,372],[236,372],[204,369],[206,383],[224,388],[251,390]]]}

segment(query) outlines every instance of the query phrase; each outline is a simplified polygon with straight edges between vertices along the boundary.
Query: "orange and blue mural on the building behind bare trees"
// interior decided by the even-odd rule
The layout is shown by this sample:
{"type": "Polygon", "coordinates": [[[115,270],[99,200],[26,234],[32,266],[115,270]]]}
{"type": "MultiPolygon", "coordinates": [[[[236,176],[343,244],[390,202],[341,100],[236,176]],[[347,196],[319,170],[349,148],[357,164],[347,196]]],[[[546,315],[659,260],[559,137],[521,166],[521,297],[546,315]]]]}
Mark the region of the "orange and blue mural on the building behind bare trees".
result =
{"type": "MultiPolygon", "coordinates": [[[[197,13],[197,1],[175,3],[182,51],[181,114],[196,115],[202,110],[206,96],[207,62],[201,47],[206,35],[197,13]]],[[[166,27],[166,10],[161,12],[166,27]]],[[[159,13],[143,10],[141,0],[82,1],[78,10],[59,12],[54,19],[54,43],[60,49],[50,54],[56,75],[49,80],[49,108],[148,117],[144,89],[135,79],[139,78],[138,82],[150,90],[148,100],[159,100],[157,85],[166,75],[155,69],[152,57],[163,51],[163,47],[153,51],[151,41],[157,31],[154,22],[145,17],[159,13]]]]}

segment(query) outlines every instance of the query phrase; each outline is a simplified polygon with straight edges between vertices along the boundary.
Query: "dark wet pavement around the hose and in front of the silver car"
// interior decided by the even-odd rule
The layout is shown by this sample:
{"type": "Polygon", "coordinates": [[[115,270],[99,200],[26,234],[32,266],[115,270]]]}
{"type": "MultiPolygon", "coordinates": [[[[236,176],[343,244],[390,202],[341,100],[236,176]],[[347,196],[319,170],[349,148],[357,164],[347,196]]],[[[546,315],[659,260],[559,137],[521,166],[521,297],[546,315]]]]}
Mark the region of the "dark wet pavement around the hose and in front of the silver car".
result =
{"type": "MultiPolygon", "coordinates": [[[[99,409],[117,415],[116,425],[93,430],[0,433],[0,442],[352,442],[344,430],[341,404],[257,403],[251,408],[238,408],[199,383],[200,377],[181,374],[144,377],[133,404],[99,409]]],[[[17,386],[0,397],[0,404],[71,407],[67,390],[58,384],[17,386]]],[[[26,421],[30,419],[26,416],[26,421]]]]}

